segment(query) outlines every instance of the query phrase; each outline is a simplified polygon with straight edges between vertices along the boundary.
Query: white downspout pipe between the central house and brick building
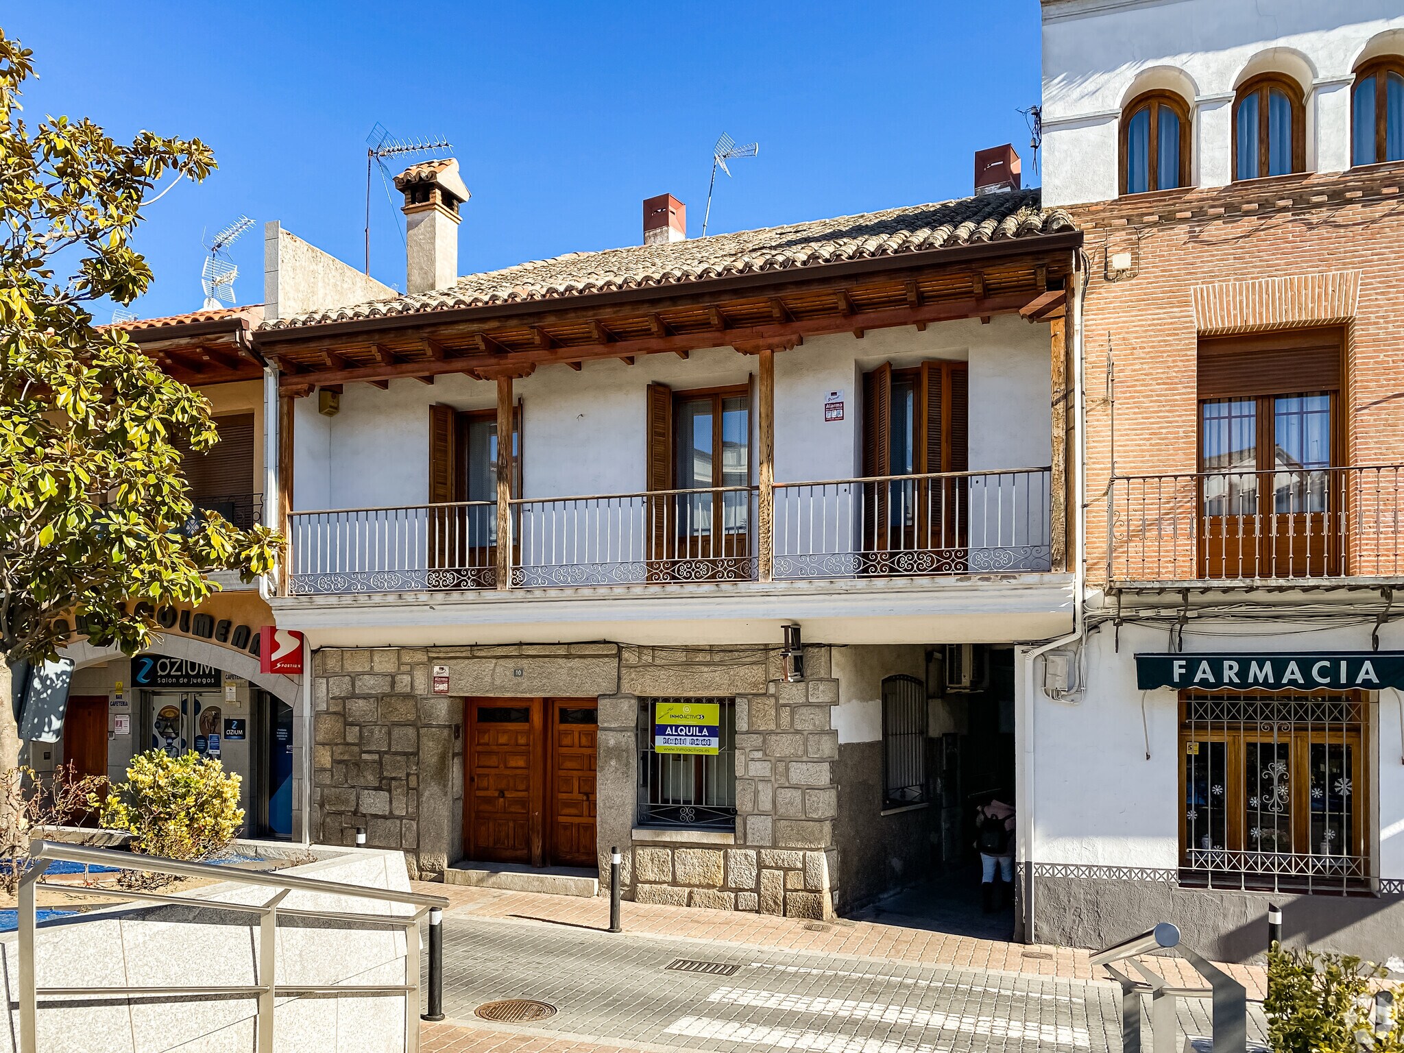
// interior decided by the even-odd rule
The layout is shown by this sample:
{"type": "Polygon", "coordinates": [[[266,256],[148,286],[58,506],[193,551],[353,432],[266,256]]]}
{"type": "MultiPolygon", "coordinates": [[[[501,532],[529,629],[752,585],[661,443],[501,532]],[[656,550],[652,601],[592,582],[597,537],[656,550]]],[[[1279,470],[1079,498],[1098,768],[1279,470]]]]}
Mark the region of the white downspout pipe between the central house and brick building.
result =
{"type": "MultiPolygon", "coordinates": [[[[1015,830],[1019,842],[1019,859],[1024,863],[1024,939],[1038,942],[1038,925],[1033,892],[1033,856],[1038,838],[1035,824],[1038,816],[1033,802],[1038,800],[1035,785],[1035,702],[1042,688],[1033,675],[1038,660],[1052,650],[1070,643],[1081,643],[1087,635],[1084,602],[1087,594],[1087,404],[1082,382],[1082,306],[1087,300],[1088,264],[1087,256],[1078,250],[1077,265],[1073,268],[1073,295],[1068,298],[1068,327],[1073,343],[1073,430],[1075,437],[1075,463],[1073,465],[1073,536],[1077,562],[1073,566],[1073,632],[1059,636],[1024,653],[1024,712],[1019,715],[1024,740],[1024,778],[1019,782],[1018,821],[1015,830]]],[[[1081,675],[1081,674],[1080,674],[1081,675]]],[[[1084,687],[1081,680],[1078,687],[1084,687]]]]}

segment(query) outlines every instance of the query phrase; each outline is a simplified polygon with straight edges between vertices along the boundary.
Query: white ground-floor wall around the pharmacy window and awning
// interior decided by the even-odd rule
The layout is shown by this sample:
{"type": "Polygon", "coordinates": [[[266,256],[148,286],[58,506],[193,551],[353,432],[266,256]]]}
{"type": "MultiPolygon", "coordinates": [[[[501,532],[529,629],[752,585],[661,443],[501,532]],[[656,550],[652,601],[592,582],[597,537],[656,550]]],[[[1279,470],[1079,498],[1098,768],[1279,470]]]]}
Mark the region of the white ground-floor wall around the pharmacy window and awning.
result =
{"type": "MultiPolygon", "coordinates": [[[[1186,651],[1369,650],[1369,626],[1247,635],[1237,623],[1195,619],[1186,651]],[[1196,629],[1199,632],[1196,632],[1196,629]],[[1213,636],[1206,633],[1216,633],[1213,636]],[[1238,635],[1244,633],[1244,635],[1238,635]]],[[[1404,628],[1386,626],[1380,649],[1404,644],[1404,628]]],[[[1179,713],[1170,688],[1136,688],[1136,651],[1164,653],[1167,633],[1123,625],[1120,651],[1111,626],[1088,642],[1088,685],[1078,705],[1036,692],[1032,723],[1021,709],[1019,779],[1033,810],[1031,858],[1042,863],[1095,863],[1174,869],[1179,858],[1179,713]],[[1026,746],[1032,744],[1032,754],[1026,746]],[[1147,748],[1150,760],[1146,758],[1147,748]]],[[[837,653],[837,651],[835,651],[837,653]]],[[[1019,677],[1022,692],[1022,675],[1019,677]]],[[[1382,878],[1404,878],[1404,761],[1400,699],[1380,692],[1372,706],[1375,782],[1372,828],[1382,878]]]]}

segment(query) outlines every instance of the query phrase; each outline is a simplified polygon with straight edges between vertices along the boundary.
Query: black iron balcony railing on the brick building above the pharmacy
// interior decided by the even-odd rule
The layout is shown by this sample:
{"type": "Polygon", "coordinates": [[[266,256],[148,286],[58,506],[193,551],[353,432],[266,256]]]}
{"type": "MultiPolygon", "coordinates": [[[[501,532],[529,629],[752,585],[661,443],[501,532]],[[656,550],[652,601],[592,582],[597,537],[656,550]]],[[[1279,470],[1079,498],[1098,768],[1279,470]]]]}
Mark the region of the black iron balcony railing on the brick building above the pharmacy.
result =
{"type": "Polygon", "coordinates": [[[1123,476],[1109,581],[1330,580],[1404,573],[1404,465],[1123,476]]]}

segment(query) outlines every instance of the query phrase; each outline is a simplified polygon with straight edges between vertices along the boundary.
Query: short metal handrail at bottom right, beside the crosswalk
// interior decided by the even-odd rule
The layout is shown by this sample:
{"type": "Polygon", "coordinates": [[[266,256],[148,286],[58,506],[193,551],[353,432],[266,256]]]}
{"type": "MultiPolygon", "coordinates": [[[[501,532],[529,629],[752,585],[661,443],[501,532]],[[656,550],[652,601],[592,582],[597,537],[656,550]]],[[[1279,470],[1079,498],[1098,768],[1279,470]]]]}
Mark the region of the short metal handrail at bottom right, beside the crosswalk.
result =
{"type": "Polygon", "coordinates": [[[1213,1000],[1213,1053],[1247,1053],[1248,1049],[1248,993],[1244,986],[1179,943],[1179,929],[1163,921],[1153,929],[1123,939],[1098,951],[1092,966],[1102,966],[1122,987],[1122,1053],[1140,1053],[1141,995],[1151,995],[1150,1033],[1153,1053],[1179,1053],[1175,1043],[1175,1000],[1213,1000]],[[1209,987],[1177,987],[1153,973],[1136,959],[1153,951],[1178,951],[1195,972],[1209,981],[1209,987]],[[1134,980],[1115,966],[1126,962],[1141,979],[1134,980]]]}

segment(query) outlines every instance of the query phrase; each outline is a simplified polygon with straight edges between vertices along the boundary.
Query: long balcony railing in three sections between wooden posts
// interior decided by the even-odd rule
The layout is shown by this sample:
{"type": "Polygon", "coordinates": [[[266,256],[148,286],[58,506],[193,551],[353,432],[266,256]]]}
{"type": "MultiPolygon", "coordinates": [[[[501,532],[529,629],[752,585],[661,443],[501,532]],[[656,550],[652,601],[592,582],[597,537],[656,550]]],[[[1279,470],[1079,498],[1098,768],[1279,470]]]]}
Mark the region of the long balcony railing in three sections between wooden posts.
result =
{"type": "MultiPolygon", "coordinates": [[[[1050,470],[776,483],[775,578],[1046,571],[1050,470]]],[[[510,588],[753,581],[760,489],[514,498],[510,588]]],[[[289,514],[295,595],[496,588],[489,501],[289,514]]]]}

